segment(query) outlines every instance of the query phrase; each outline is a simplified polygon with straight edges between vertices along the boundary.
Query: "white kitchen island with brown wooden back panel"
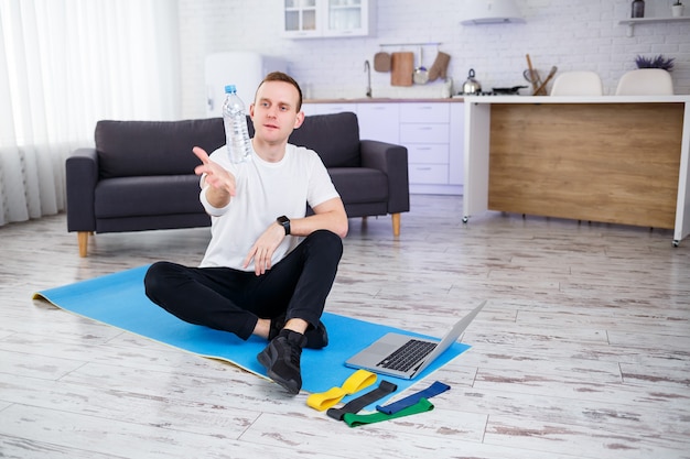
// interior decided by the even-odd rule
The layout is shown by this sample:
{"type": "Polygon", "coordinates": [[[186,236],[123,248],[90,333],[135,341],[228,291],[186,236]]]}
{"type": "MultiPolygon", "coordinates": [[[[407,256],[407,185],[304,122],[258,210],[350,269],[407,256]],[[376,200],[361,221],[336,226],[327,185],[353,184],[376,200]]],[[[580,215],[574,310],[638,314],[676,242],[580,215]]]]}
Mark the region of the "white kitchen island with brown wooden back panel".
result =
{"type": "Polygon", "coordinates": [[[464,221],[486,210],[690,233],[690,96],[465,97],[464,221]]]}

